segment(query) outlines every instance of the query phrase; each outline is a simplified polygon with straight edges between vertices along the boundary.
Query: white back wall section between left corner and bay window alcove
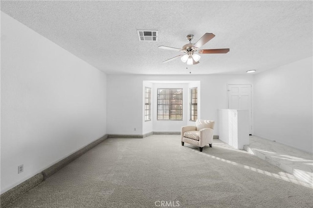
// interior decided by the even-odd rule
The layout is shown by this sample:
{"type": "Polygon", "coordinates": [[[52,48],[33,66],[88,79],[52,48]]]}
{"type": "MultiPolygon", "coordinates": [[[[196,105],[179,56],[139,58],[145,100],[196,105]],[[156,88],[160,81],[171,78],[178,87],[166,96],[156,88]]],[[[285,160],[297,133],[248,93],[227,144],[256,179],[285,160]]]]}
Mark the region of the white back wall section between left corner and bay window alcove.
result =
{"type": "Polygon", "coordinates": [[[142,81],[140,76],[107,75],[108,134],[142,134],[142,81]]]}

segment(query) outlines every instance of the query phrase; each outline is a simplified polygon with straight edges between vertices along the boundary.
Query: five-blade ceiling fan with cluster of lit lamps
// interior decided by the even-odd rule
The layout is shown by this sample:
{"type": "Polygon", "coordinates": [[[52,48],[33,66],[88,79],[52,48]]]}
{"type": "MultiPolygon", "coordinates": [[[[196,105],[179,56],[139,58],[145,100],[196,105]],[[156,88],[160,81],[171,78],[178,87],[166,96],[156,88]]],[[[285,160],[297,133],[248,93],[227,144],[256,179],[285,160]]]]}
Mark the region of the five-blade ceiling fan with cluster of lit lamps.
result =
{"type": "Polygon", "coordinates": [[[199,48],[207,43],[210,39],[214,38],[215,35],[213,33],[205,33],[196,43],[191,43],[191,40],[194,38],[194,35],[188,35],[186,38],[189,40],[189,43],[182,46],[182,49],[179,48],[173,48],[168,46],[159,46],[158,48],[161,49],[167,49],[167,50],[173,50],[173,51],[180,51],[184,52],[185,54],[178,55],[176,57],[167,59],[163,61],[162,63],[169,62],[171,60],[174,60],[178,57],[181,57],[182,62],[187,62],[188,65],[198,64],[200,60],[200,55],[198,54],[226,54],[229,52],[229,48],[221,48],[221,49],[201,49],[199,48]],[[198,53],[198,54],[197,54],[198,53]]]}

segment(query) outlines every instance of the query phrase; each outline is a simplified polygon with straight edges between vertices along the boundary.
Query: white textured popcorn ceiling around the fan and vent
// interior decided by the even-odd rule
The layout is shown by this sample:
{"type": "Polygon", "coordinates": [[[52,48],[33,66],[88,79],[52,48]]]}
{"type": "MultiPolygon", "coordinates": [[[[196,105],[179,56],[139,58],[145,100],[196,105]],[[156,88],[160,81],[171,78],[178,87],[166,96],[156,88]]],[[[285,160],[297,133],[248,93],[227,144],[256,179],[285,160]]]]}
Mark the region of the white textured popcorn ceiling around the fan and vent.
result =
{"type": "Polygon", "coordinates": [[[107,74],[245,74],[312,57],[312,1],[3,1],[1,11],[107,74]],[[158,30],[157,42],[137,30],[158,30]],[[215,38],[200,63],[162,61],[188,34],[215,38]],[[186,70],[188,67],[188,70],[186,70]]]}

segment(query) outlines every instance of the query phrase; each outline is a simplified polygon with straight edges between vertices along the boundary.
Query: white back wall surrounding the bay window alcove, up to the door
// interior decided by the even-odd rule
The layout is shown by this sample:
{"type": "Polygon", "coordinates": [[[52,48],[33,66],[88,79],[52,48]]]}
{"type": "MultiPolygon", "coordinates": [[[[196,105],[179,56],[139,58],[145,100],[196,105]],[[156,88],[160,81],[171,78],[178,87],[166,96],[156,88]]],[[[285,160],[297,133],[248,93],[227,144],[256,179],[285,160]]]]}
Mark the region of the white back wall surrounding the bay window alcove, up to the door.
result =
{"type": "MultiPolygon", "coordinates": [[[[201,119],[218,119],[218,109],[227,108],[227,84],[252,84],[252,75],[107,75],[107,108],[109,134],[142,134],[143,81],[200,81],[201,119]],[[137,131],[134,131],[136,128],[137,131]]],[[[156,102],[156,100],[154,101],[156,102]]],[[[156,109],[154,109],[156,111],[156,109]]],[[[187,117],[187,119],[189,119],[187,117]]],[[[218,122],[216,122],[217,124],[218,122]]],[[[155,129],[153,129],[155,131],[155,129]]],[[[177,131],[169,125],[168,131],[177,131]]],[[[214,134],[218,134],[218,125],[214,134]]]]}

